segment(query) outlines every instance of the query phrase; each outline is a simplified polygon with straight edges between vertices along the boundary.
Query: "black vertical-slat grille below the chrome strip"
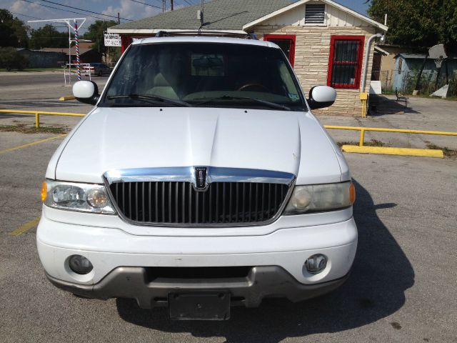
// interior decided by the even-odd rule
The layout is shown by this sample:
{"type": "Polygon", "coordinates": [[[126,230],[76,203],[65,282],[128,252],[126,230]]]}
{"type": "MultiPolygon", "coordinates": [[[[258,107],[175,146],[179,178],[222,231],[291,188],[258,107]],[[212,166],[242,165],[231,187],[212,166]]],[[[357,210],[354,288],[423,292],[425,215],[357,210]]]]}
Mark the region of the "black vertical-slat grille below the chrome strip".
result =
{"type": "Polygon", "coordinates": [[[248,225],[272,219],[288,185],[214,182],[197,192],[191,182],[115,182],[110,190],[121,214],[139,224],[248,225]]]}

